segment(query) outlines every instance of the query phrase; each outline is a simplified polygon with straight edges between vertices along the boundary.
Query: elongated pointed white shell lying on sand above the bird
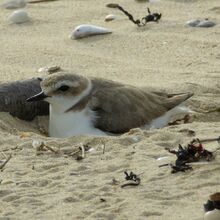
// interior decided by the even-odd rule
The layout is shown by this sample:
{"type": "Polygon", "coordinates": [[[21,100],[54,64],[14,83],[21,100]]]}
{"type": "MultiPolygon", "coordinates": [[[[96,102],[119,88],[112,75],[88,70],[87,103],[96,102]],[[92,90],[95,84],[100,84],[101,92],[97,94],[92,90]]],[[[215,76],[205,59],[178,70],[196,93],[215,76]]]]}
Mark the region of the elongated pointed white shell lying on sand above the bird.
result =
{"type": "Polygon", "coordinates": [[[89,25],[89,24],[82,24],[77,26],[70,38],[71,39],[79,39],[83,37],[88,37],[92,35],[99,35],[99,34],[110,34],[112,33],[111,30],[108,30],[107,28],[95,26],[95,25],[89,25]]]}

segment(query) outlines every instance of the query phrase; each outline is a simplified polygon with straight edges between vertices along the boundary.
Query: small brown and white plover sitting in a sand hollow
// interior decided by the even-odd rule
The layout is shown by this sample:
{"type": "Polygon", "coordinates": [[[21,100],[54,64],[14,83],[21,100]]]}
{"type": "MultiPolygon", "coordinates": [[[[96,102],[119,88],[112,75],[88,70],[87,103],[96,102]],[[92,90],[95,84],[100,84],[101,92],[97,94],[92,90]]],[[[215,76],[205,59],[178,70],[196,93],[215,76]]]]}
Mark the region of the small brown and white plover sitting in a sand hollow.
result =
{"type": "Polygon", "coordinates": [[[169,97],[66,72],[49,75],[40,85],[42,91],[27,101],[49,102],[52,137],[117,134],[137,127],[161,128],[171,116],[189,112],[180,104],[192,96],[182,93],[169,97]]]}

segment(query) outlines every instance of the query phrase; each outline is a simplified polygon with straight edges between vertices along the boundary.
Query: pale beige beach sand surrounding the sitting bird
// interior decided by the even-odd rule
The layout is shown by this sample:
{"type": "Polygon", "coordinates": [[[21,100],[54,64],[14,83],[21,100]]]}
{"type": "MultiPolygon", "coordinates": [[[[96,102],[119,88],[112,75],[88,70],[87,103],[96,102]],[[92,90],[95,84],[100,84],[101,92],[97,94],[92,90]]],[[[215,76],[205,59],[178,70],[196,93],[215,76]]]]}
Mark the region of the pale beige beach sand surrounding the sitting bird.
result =
{"type": "MultiPolygon", "coordinates": [[[[0,13],[0,81],[38,76],[43,66],[104,77],[167,92],[194,92],[187,104],[196,113],[191,123],[164,129],[134,129],[116,137],[79,136],[56,139],[44,136],[44,118],[24,122],[0,113],[0,152],[12,155],[0,173],[0,219],[149,219],[201,220],[203,204],[219,191],[219,163],[194,166],[171,174],[161,163],[174,162],[165,147],[186,145],[192,138],[220,135],[219,25],[192,28],[186,21],[220,21],[219,0],[161,0],[155,4],[118,0],[135,18],[161,12],[159,23],[143,28],[120,11],[105,7],[110,1],[59,0],[28,4],[30,23],[7,21],[11,10],[0,13]],[[106,23],[108,14],[117,20],[106,23]],[[80,24],[109,28],[110,35],[71,40],[80,24]],[[187,129],[195,131],[190,136],[187,129]],[[33,140],[58,150],[37,151],[33,140]],[[66,155],[78,144],[91,147],[83,160],[66,155]],[[103,150],[103,146],[105,148],[103,150]],[[104,153],[103,153],[104,152],[104,153]],[[157,161],[161,156],[166,160],[157,161]],[[140,174],[137,187],[121,188],[124,171],[140,174]],[[117,180],[113,183],[113,179],[117,180]]],[[[126,109],[125,109],[126,110],[126,109]]],[[[209,150],[217,143],[207,143],[209,150]]],[[[0,154],[0,160],[4,156],[0,154]]]]}

